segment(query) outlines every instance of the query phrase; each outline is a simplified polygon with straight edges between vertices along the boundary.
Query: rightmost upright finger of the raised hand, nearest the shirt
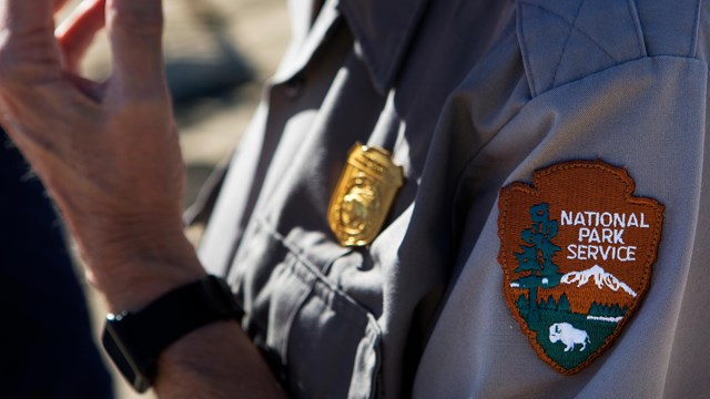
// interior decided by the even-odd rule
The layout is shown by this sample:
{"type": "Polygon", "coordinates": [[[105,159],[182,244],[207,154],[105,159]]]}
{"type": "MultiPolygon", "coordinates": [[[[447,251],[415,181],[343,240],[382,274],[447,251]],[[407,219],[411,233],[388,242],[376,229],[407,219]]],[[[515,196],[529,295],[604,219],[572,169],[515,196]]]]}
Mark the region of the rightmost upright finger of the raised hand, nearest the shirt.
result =
{"type": "Polygon", "coordinates": [[[122,91],[145,93],[164,86],[161,0],[106,1],[113,73],[122,91]]]}

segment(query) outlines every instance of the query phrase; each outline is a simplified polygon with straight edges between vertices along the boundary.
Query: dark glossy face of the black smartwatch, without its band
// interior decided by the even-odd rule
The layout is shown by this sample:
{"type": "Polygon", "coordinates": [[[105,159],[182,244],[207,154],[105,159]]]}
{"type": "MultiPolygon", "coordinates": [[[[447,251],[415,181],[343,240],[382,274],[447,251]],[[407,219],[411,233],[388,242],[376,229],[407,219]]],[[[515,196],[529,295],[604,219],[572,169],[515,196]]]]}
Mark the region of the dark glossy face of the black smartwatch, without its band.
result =
{"type": "Polygon", "coordinates": [[[155,375],[154,365],[141,361],[140,352],[131,338],[121,334],[116,323],[122,318],[121,315],[109,314],[101,342],[123,377],[133,386],[133,389],[142,393],[151,387],[150,376],[155,375]]]}

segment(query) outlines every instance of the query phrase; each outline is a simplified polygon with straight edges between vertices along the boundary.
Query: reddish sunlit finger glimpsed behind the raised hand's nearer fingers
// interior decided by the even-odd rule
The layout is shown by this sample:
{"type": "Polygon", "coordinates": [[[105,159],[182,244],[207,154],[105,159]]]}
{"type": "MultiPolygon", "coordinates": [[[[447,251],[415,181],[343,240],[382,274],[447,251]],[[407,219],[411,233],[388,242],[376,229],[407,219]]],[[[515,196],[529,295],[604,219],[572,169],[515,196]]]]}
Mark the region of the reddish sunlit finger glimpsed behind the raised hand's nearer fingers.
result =
{"type": "Polygon", "coordinates": [[[94,35],[105,23],[105,0],[84,0],[62,22],[54,34],[62,53],[63,68],[79,73],[81,60],[94,35]]]}

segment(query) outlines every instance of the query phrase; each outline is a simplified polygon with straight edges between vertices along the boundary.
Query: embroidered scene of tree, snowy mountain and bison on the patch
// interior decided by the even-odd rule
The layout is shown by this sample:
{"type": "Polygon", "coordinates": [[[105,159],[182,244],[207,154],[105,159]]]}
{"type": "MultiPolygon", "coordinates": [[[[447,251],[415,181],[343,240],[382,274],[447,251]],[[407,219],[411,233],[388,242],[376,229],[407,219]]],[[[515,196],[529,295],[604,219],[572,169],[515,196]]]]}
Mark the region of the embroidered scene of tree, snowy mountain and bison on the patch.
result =
{"type": "Polygon", "coordinates": [[[516,316],[547,358],[562,371],[572,370],[606,345],[638,294],[596,263],[581,270],[579,259],[560,263],[567,266],[560,273],[557,262],[567,257],[559,256],[562,247],[556,244],[562,232],[559,219],[550,217],[547,203],[532,204],[528,215],[513,252],[516,278],[508,282],[516,316]]]}

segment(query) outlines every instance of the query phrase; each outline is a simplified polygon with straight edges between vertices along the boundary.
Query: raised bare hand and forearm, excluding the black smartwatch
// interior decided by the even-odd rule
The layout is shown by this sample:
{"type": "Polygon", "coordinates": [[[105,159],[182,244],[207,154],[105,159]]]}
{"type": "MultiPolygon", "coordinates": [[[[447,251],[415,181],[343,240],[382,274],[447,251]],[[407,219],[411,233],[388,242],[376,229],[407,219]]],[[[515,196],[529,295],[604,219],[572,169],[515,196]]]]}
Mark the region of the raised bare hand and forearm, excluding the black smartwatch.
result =
{"type": "Polygon", "coordinates": [[[182,232],[185,176],[162,64],[161,1],[88,0],[54,32],[63,2],[0,1],[0,119],[61,209],[90,282],[112,311],[130,313],[109,325],[112,356],[141,360],[126,361],[141,388],[158,357],[161,397],[280,396],[239,325],[214,321],[232,317],[230,293],[204,282],[182,232]],[[113,72],[94,82],[79,65],[104,24],[113,72]],[[185,285],[195,288],[178,304],[139,316],[185,285]],[[174,317],[193,305],[192,318],[174,317]]]}

